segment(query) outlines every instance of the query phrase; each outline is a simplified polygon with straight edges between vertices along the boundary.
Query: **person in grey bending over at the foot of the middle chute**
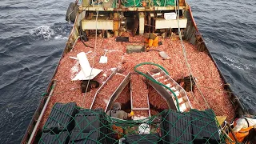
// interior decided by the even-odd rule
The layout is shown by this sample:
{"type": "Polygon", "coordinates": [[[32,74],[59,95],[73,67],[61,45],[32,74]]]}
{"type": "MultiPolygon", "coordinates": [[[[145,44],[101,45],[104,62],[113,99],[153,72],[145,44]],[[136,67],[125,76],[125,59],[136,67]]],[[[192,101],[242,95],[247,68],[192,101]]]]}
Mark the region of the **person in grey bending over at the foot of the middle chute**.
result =
{"type": "Polygon", "coordinates": [[[119,102],[115,102],[112,110],[106,112],[107,115],[114,118],[119,119],[127,119],[134,116],[134,112],[131,111],[130,114],[126,113],[125,111],[121,110],[121,104],[119,102]]]}

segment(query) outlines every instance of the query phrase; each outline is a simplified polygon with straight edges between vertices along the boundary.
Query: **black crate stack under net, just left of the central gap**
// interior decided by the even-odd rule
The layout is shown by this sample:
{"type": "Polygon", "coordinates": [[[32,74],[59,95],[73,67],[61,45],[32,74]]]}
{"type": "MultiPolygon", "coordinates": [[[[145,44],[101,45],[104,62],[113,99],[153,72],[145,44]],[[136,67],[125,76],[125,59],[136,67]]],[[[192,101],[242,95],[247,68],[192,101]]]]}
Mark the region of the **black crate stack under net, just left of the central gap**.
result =
{"type": "Polygon", "coordinates": [[[80,110],[75,115],[75,126],[70,143],[111,143],[110,126],[102,109],[80,110]]]}

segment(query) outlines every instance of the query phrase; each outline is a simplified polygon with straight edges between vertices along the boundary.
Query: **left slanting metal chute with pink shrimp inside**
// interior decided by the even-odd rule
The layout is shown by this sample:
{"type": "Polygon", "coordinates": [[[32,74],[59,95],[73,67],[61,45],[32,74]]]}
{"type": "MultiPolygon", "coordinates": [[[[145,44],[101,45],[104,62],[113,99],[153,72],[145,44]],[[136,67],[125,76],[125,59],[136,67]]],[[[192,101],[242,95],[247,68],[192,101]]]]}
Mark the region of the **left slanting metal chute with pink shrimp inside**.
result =
{"type": "MultiPolygon", "coordinates": [[[[113,106],[114,104],[114,101],[118,98],[118,95],[121,94],[122,90],[127,86],[127,84],[130,82],[130,73],[127,74],[127,75],[124,75],[124,74],[119,74],[117,73],[118,69],[114,70],[112,74],[110,74],[109,78],[106,79],[106,82],[104,82],[102,84],[102,86],[99,87],[99,89],[97,90],[96,94],[94,95],[94,99],[93,99],[93,102],[91,103],[90,105],[90,109],[94,109],[94,108],[97,108],[95,107],[95,103],[101,103],[102,106],[99,106],[99,107],[102,107],[102,109],[106,112],[107,110],[110,110],[111,109],[111,106],[113,106]],[[115,78],[117,76],[122,76],[123,79],[122,79],[122,82],[120,82],[118,84],[118,86],[116,88],[114,88],[114,92],[112,94],[109,94],[109,95],[105,95],[104,97],[106,98],[106,101],[107,102],[104,102],[103,98],[102,98],[102,89],[106,86],[110,86],[111,83],[108,83],[106,84],[107,82],[110,82],[110,80],[112,78],[115,78]],[[97,102],[96,102],[97,101],[97,102]]],[[[104,94],[103,94],[104,95],[104,94]]]]}

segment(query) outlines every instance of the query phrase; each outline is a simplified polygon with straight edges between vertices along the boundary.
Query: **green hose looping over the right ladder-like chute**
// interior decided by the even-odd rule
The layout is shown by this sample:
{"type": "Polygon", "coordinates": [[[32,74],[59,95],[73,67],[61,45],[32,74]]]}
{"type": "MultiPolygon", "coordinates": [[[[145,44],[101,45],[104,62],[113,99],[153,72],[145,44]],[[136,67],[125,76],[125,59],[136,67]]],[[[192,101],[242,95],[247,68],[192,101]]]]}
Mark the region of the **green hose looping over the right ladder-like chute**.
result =
{"type": "Polygon", "coordinates": [[[137,72],[138,74],[143,75],[144,77],[146,77],[147,79],[149,79],[151,82],[154,82],[154,83],[156,83],[156,84],[158,84],[158,85],[160,85],[160,86],[164,86],[167,90],[170,90],[170,92],[171,92],[172,94],[174,94],[174,98],[175,98],[175,101],[176,101],[176,106],[177,106],[177,108],[178,108],[178,112],[181,112],[181,110],[179,110],[178,98],[177,98],[176,94],[174,93],[174,91],[170,89],[170,87],[168,87],[168,86],[162,84],[161,82],[158,82],[158,81],[154,80],[153,78],[150,78],[148,75],[146,75],[146,74],[142,73],[141,71],[137,70],[137,68],[138,68],[139,66],[143,66],[143,65],[158,66],[160,69],[162,69],[164,72],[166,72],[166,74],[169,75],[169,73],[166,71],[166,69],[163,68],[162,66],[156,64],[156,63],[153,63],[153,62],[142,62],[142,63],[139,63],[138,65],[134,66],[134,71],[135,71],[135,72],[137,72]]]}

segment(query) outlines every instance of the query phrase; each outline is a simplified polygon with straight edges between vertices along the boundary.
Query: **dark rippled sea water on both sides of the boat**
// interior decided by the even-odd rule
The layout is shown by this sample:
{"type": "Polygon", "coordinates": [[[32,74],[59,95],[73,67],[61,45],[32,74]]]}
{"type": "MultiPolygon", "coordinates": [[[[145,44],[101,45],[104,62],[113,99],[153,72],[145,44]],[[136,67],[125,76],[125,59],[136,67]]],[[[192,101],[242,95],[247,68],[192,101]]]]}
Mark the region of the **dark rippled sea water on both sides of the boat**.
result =
{"type": "MultiPolygon", "coordinates": [[[[65,21],[70,2],[0,2],[0,143],[22,140],[72,28],[65,21]]],[[[256,1],[188,2],[234,93],[256,109],[256,1]]]]}

